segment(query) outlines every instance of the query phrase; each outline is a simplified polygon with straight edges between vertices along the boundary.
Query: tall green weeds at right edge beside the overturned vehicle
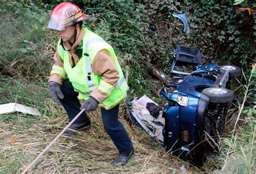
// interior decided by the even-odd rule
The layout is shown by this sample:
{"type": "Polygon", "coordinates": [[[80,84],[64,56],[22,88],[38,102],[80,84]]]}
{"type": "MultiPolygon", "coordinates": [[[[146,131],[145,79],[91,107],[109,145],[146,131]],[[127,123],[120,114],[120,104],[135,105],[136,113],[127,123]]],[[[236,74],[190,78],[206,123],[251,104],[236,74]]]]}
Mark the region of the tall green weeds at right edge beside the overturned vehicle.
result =
{"type": "Polygon", "coordinates": [[[244,99],[239,104],[231,137],[223,138],[224,147],[221,153],[225,155],[221,158],[224,160],[222,172],[255,172],[255,75],[255,64],[249,76],[243,72],[246,84],[240,84],[239,87],[244,89],[244,99]],[[248,106],[245,107],[245,104],[248,106]]]}

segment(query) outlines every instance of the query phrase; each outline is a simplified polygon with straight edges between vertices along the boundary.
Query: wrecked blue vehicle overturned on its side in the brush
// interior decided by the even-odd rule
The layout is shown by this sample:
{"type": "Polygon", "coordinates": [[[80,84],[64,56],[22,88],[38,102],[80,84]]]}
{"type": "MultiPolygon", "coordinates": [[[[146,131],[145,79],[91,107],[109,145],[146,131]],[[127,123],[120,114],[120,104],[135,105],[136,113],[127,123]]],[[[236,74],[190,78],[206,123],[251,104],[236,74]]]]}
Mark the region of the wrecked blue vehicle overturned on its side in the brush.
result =
{"type": "Polygon", "coordinates": [[[131,119],[136,120],[152,138],[157,137],[167,153],[203,166],[207,151],[213,150],[210,141],[219,143],[217,137],[223,132],[226,114],[234,99],[230,81],[240,75],[241,69],[211,63],[202,65],[200,50],[195,47],[177,45],[174,57],[171,73],[178,76],[174,76],[159,92],[160,97],[167,101],[160,118],[145,119],[145,114],[144,118],[139,118],[136,102],[133,102],[130,103],[131,119]],[[196,68],[187,73],[180,71],[177,64],[192,64],[196,68]],[[153,127],[152,123],[161,126],[163,137],[159,137],[159,127],[153,127]]]}

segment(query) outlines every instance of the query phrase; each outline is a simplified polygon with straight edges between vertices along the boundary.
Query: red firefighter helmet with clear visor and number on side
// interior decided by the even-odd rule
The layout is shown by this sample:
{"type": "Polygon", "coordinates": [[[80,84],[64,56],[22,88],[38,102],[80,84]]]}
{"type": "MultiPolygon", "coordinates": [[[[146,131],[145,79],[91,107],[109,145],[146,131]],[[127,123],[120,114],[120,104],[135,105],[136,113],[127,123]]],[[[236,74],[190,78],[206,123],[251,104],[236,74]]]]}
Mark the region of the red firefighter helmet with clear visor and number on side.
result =
{"type": "Polygon", "coordinates": [[[63,31],[67,27],[89,18],[90,16],[83,14],[75,4],[64,2],[52,10],[47,28],[63,31]]]}

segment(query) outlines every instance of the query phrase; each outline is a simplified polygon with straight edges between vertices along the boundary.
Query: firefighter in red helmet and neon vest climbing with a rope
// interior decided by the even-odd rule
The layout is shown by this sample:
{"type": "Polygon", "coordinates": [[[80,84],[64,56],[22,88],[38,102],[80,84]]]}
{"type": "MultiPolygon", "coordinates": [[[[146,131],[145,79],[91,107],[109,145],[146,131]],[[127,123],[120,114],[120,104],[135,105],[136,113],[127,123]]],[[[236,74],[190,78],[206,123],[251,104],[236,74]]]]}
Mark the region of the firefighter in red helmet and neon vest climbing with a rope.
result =
{"type": "MultiPolygon", "coordinates": [[[[99,106],[104,129],[119,151],[112,164],[125,164],[134,149],[118,120],[118,110],[128,86],[113,48],[82,27],[83,20],[89,18],[70,2],[60,3],[52,10],[48,28],[57,31],[60,39],[49,78],[50,94],[55,103],[65,108],[70,121],[81,109],[90,112],[99,106]],[[80,105],[78,98],[85,102],[80,105]]],[[[91,121],[84,112],[64,134],[90,128],[91,121]]]]}

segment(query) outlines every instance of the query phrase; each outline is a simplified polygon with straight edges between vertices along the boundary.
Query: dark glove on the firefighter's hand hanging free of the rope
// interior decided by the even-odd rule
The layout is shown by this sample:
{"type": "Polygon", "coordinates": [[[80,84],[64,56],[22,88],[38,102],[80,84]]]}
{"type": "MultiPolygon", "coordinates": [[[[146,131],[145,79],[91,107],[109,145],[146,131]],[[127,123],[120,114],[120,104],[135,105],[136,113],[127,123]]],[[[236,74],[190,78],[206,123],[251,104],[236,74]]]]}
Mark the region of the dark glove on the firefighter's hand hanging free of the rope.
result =
{"type": "Polygon", "coordinates": [[[57,82],[50,82],[49,86],[50,86],[50,94],[53,102],[60,105],[59,98],[60,99],[64,98],[62,90],[60,90],[60,84],[58,84],[57,82]]]}

